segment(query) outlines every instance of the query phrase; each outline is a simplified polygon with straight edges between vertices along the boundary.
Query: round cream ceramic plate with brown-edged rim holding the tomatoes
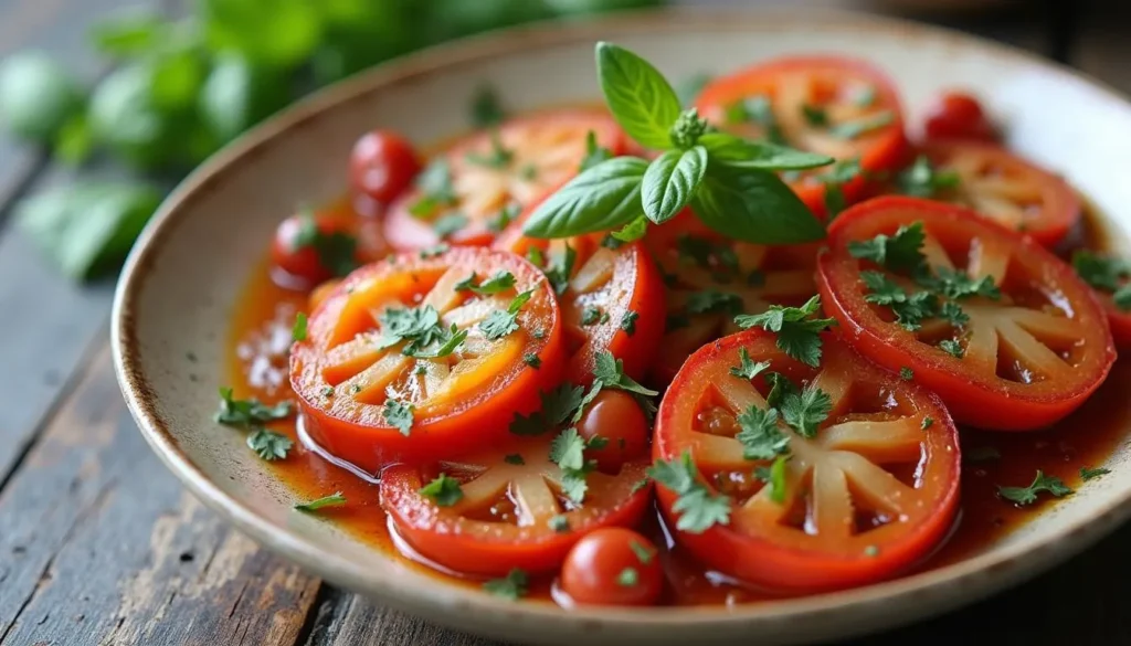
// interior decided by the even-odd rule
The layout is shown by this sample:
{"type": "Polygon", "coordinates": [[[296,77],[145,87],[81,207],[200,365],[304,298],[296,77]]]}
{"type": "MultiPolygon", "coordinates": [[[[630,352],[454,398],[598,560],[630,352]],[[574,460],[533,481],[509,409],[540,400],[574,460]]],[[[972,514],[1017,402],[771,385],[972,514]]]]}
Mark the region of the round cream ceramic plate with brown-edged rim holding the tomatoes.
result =
{"type": "Polygon", "coordinates": [[[1105,465],[1110,476],[952,566],[734,608],[575,612],[446,584],[294,513],[293,496],[242,437],[211,420],[230,313],[264,241],[296,204],[343,190],[347,153],[369,128],[394,128],[417,143],[458,132],[484,81],[516,110],[598,98],[597,40],[640,52],[674,79],[791,52],[863,57],[896,80],[913,121],[939,88],[968,87],[1008,124],[1011,147],[1067,175],[1107,215],[1117,244],[1131,231],[1131,105],[1067,69],[946,31],[801,10],[657,12],[431,50],[322,92],[216,155],[165,201],[135,248],[114,302],[118,378],[146,440],[196,496],[269,549],[398,610],[517,641],[649,646],[795,644],[909,622],[1033,576],[1131,513],[1131,464],[1121,448],[1105,465]]]}

